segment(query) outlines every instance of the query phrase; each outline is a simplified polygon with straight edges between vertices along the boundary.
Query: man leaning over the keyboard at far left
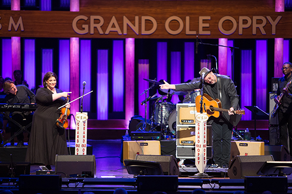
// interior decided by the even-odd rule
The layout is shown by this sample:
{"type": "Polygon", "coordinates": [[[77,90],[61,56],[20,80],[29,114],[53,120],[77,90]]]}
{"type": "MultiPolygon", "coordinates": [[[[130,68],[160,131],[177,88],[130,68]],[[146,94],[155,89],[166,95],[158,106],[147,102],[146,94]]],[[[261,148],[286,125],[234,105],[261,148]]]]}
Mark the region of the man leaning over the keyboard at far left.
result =
{"type": "MultiPolygon", "coordinates": [[[[34,93],[25,85],[14,85],[13,81],[7,80],[3,84],[3,90],[6,93],[5,96],[5,102],[7,104],[35,104],[35,96],[34,93]]],[[[22,126],[26,126],[32,122],[32,112],[6,112],[6,115],[11,116],[15,122],[22,126]]],[[[8,120],[4,117],[3,120],[3,132],[5,133],[6,126],[7,126],[8,120]]],[[[19,127],[17,127],[13,122],[10,122],[10,128],[11,128],[11,136],[19,130],[19,127]]],[[[30,131],[30,128],[28,128],[28,131],[30,131]]],[[[20,133],[17,135],[17,147],[23,147],[24,146],[24,135],[23,133],[20,133]]],[[[11,146],[14,145],[14,139],[11,140],[11,146]]]]}

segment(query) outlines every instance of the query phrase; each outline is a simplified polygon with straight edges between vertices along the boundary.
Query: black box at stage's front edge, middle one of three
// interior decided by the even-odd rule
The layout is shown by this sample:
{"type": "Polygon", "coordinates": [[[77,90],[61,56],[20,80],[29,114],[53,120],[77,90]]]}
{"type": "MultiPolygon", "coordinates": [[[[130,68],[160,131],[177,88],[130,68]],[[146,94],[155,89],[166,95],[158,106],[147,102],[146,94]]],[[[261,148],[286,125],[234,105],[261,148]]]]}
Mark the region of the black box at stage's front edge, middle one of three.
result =
{"type": "MultiPolygon", "coordinates": [[[[178,190],[178,176],[138,176],[137,191],[174,191],[178,190]]],[[[143,192],[149,193],[149,192],[143,192]]]]}

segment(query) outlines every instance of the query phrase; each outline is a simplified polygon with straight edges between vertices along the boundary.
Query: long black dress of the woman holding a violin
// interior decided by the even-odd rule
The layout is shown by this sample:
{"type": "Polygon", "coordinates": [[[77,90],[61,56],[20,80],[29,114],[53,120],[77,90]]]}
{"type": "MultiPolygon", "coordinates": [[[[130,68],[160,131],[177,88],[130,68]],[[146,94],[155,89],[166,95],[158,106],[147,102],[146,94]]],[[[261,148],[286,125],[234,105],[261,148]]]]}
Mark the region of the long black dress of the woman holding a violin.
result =
{"type": "MultiPolygon", "coordinates": [[[[62,91],[56,88],[56,92],[62,91]]],[[[66,130],[56,126],[56,119],[60,116],[57,108],[64,105],[66,99],[62,97],[53,101],[52,94],[47,88],[36,91],[37,108],[33,114],[27,162],[54,165],[56,154],[68,155],[66,130]]]]}

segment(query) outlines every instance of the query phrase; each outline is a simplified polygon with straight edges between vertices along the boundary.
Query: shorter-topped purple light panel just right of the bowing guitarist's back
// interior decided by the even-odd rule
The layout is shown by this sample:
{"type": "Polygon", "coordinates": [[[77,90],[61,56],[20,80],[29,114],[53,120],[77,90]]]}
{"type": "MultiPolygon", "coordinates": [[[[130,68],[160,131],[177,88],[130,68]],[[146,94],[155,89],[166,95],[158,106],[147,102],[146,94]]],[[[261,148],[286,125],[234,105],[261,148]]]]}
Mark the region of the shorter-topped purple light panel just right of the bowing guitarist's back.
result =
{"type": "MultiPolygon", "coordinates": [[[[252,51],[242,50],[241,51],[241,95],[239,99],[241,101],[241,108],[244,106],[253,105],[253,93],[252,93],[252,83],[253,83],[253,71],[252,71],[252,51]]],[[[252,112],[249,110],[245,111],[245,115],[242,116],[241,120],[251,120],[252,112]]]]}

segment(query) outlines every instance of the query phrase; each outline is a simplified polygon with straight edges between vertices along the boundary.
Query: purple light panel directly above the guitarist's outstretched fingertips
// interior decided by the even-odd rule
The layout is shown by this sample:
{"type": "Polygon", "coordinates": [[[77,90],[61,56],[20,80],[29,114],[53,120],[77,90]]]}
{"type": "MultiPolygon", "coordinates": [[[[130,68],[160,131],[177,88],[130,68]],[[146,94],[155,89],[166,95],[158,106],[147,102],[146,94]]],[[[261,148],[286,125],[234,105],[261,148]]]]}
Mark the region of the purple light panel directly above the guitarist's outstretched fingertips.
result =
{"type": "Polygon", "coordinates": [[[157,42],[157,81],[168,80],[168,43],[157,42]]]}

